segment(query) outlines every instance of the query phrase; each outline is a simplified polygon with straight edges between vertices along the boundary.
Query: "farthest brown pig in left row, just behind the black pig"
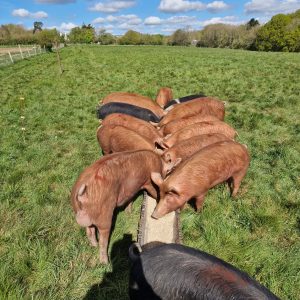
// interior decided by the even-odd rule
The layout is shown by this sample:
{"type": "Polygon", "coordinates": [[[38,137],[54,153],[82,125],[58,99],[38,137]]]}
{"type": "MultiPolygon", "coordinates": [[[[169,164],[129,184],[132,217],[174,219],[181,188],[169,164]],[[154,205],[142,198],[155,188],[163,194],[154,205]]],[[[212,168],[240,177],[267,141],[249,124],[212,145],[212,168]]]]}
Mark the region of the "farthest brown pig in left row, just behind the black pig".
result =
{"type": "Polygon", "coordinates": [[[151,110],[159,118],[164,116],[164,110],[157,103],[155,103],[151,98],[139,94],[114,92],[107,95],[102,100],[102,104],[110,102],[121,102],[136,105],[151,110]]]}

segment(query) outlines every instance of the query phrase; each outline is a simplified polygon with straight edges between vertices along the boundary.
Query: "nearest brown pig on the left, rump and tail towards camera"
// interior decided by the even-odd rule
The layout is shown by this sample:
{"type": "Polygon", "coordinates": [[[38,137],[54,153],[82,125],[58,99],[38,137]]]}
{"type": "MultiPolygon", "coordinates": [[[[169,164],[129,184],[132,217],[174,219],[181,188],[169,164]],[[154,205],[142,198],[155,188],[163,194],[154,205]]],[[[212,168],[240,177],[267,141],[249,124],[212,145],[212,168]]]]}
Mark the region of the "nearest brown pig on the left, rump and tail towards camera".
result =
{"type": "Polygon", "coordinates": [[[140,190],[157,198],[151,172],[160,173],[159,155],[142,150],[107,155],[86,168],[71,192],[76,221],[86,227],[87,237],[97,246],[99,232],[100,262],[107,263],[107,246],[114,209],[125,205],[140,190]]]}

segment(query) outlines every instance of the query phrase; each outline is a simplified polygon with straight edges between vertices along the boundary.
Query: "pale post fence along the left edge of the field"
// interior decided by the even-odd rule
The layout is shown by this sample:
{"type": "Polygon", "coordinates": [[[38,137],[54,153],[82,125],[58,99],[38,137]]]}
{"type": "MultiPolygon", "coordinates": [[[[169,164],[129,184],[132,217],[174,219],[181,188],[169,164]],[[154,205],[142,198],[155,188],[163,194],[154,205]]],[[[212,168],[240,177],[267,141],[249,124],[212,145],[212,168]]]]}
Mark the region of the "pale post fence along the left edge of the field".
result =
{"type": "MultiPolygon", "coordinates": [[[[57,48],[53,47],[53,49],[62,48],[64,44],[60,44],[57,48]]],[[[0,67],[6,66],[9,64],[13,64],[16,61],[22,60],[24,58],[30,58],[32,56],[39,55],[41,53],[45,53],[45,48],[41,48],[40,46],[11,46],[11,47],[0,47],[0,67]]]]}

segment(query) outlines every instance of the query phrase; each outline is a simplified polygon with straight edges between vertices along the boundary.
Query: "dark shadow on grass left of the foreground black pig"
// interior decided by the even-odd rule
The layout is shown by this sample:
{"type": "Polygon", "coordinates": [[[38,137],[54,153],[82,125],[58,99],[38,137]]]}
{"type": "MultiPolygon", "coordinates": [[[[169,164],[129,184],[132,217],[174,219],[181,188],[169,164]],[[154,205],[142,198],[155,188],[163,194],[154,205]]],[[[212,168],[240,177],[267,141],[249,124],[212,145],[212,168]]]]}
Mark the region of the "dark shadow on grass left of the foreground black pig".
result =
{"type": "Polygon", "coordinates": [[[112,300],[129,299],[129,259],[128,249],[133,243],[131,234],[124,234],[121,240],[116,241],[110,253],[112,271],[105,274],[103,280],[94,284],[83,300],[112,300]]]}

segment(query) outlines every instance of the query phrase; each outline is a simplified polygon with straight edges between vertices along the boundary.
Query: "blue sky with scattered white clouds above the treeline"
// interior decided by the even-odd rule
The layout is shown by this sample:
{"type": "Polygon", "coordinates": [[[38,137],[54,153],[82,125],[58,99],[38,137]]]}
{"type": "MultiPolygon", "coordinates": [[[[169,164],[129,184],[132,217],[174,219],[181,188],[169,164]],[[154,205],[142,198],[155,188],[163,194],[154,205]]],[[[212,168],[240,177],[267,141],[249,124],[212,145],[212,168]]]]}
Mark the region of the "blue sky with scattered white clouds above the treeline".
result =
{"type": "Polygon", "coordinates": [[[68,33],[83,23],[121,35],[132,29],[171,34],[178,28],[199,30],[216,23],[244,24],[251,18],[265,23],[278,13],[300,9],[300,0],[0,0],[0,24],[22,24],[68,33]]]}

